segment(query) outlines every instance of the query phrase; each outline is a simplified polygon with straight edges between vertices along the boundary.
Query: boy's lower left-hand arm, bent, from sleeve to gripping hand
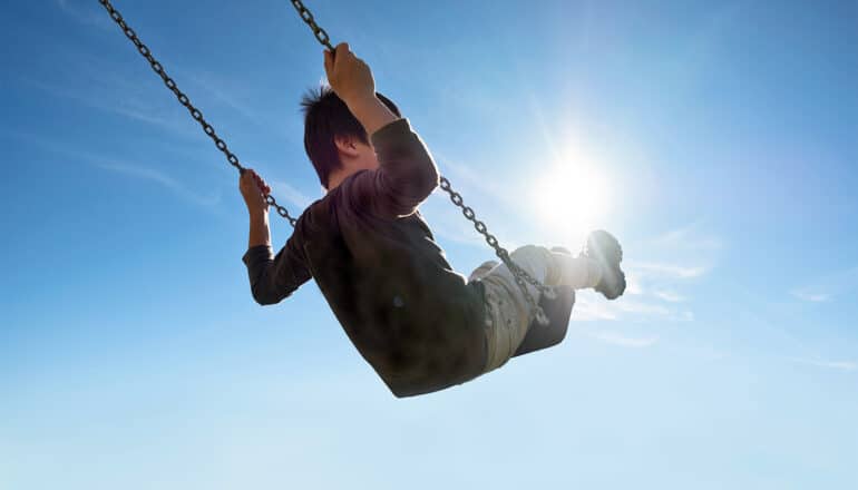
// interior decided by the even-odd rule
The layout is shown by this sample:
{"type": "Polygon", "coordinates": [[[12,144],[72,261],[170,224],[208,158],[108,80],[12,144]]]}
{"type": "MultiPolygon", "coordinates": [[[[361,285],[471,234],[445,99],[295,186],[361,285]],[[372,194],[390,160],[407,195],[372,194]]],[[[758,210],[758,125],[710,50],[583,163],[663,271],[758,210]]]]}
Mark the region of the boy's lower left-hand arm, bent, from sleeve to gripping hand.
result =
{"type": "Polygon", "coordinates": [[[240,184],[250,215],[247,252],[242,261],[247,266],[253,298],[259,304],[275,304],[291,295],[311,277],[301,247],[300,228],[274,256],[269,229],[269,204],[264,195],[271,189],[256,173],[245,170],[240,184]]]}

